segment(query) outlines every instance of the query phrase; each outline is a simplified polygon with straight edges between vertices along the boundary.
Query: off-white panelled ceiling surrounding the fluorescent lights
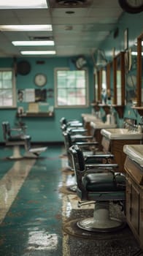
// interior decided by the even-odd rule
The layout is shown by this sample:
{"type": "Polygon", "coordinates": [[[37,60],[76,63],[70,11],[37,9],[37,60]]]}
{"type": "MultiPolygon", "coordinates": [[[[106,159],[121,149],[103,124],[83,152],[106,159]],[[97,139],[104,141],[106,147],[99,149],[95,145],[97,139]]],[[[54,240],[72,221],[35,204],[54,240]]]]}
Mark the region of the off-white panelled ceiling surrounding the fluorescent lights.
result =
{"type": "MultiPolygon", "coordinates": [[[[47,1],[50,7],[43,10],[0,10],[0,25],[50,23],[53,25],[53,31],[50,32],[1,31],[0,57],[21,56],[20,50],[48,49],[56,50],[56,56],[88,56],[115,29],[117,20],[123,12],[117,0],[86,0],[88,2],[81,7],[73,7],[71,4],[65,7],[64,4],[56,4],[55,1],[57,0],[47,1]],[[74,13],[68,14],[67,11],[74,13]],[[11,43],[12,40],[29,40],[34,37],[53,38],[55,46],[31,49],[31,47],[15,47],[11,43]]],[[[71,2],[71,0],[66,1],[71,2]]]]}

